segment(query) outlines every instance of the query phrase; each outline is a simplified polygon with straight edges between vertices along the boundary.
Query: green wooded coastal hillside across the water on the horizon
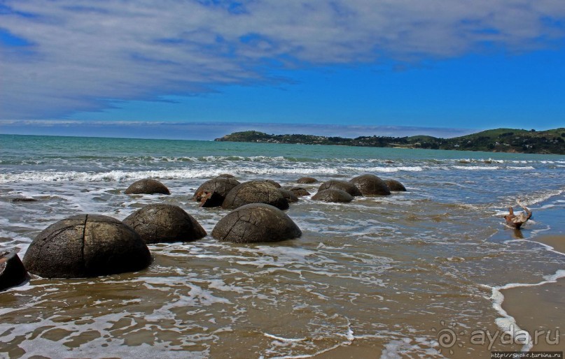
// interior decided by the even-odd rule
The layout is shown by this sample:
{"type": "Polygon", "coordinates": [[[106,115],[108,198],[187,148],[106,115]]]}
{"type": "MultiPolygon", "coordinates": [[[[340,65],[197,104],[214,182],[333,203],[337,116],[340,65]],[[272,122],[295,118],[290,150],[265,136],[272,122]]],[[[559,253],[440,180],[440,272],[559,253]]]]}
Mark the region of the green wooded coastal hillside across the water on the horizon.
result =
{"type": "Polygon", "coordinates": [[[459,149],[465,151],[512,152],[527,154],[565,154],[565,128],[535,131],[494,129],[456,138],[428,135],[410,137],[361,136],[357,138],[316,135],[270,135],[258,131],[235,132],[216,138],[229,142],[300,143],[304,145],[342,145],[363,147],[403,147],[459,149]]]}

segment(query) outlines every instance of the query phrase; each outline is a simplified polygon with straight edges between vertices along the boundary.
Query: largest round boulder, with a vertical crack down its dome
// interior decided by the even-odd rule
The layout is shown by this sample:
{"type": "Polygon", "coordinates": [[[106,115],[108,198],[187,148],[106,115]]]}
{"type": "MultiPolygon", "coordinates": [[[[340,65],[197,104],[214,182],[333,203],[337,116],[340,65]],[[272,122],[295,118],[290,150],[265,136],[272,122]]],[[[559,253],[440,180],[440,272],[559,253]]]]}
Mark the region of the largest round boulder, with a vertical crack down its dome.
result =
{"type": "Polygon", "coordinates": [[[80,214],[48,226],[29,244],[25,268],[46,278],[85,278],[142,270],[151,254],[118,219],[80,214]]]}

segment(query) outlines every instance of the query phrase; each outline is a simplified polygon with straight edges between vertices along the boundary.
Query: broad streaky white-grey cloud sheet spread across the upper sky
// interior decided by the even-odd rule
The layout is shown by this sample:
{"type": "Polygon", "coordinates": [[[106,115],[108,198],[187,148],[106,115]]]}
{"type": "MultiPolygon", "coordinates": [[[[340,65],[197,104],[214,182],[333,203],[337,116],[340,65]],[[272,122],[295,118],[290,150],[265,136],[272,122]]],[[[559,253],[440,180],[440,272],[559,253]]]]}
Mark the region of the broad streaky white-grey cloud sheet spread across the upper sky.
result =
{"type": "Polygon", "coordinates": [[[0,5],[0,118],[279,81],[269,69],[413,63],[564,38],[561,0],[86,1],[0,5]],[[17,44],[16,44],[17,43],[17,44]]]}

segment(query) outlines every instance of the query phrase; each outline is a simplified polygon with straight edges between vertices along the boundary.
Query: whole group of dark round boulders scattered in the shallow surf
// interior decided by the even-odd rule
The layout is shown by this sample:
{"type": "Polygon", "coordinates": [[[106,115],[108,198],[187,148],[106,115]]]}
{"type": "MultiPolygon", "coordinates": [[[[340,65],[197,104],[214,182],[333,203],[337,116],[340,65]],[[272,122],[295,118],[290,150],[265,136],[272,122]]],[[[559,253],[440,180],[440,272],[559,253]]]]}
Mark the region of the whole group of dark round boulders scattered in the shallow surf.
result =
{"type": "MultiPolygon", "coordinates": [[[[302,177],[297,182],[317,180],[302,177]]],[[[349,182],[323,182],[312,200],[348,203],[354,196],[386,196],[406,191],[396,180],[383,181],[361,175],[349,182]]],[[[134,182],[127,194],[169,194],[167,187],[151,179],[134,182]]],[[[223,174],[204,182],[193,194],[201,207],[232,210],[212,231],[216,240],[235,243],[278,242],[300,237],[302,232],[282,210],[298,197],[310,196],[301,186],[282,188],[273,180],[239,183],[223,174]]],[[[26,269],[47,278],[83,278],[142,270],[151,263],[146,244],[190,242],[207,235],[198,221],[181,207],[150,204],[124,221],[98,214],[81,214],[48,226],[29,245],[23,263],[17,254],[0,253],[0,290],[25,280],[26,269]]]]}

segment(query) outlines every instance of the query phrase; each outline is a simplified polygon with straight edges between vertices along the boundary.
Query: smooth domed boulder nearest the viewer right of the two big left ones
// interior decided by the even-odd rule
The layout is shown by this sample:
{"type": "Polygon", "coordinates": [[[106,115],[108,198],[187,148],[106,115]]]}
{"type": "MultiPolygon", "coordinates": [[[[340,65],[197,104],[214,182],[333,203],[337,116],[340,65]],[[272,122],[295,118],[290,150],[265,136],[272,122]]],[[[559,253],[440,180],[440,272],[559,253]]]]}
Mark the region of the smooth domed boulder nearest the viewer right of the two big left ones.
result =
{"type": "Polygon", "coordinates": [[[251,203],[230,212],[212,230],[216,240],[234,243],[279,242],[300,237],[293,220],[272,205],[251,203]]]}

